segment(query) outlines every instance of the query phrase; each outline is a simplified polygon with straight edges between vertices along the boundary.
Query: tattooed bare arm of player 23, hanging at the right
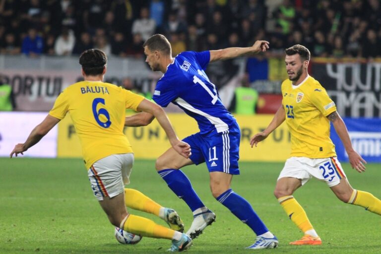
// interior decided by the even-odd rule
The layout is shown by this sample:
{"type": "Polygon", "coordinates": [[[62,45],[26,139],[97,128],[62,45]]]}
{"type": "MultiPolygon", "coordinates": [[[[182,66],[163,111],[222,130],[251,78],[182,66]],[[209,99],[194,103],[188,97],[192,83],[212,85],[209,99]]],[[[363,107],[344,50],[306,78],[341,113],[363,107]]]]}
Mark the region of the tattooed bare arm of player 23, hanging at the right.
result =
{"type": "Polygon", "coordinates": [[[359,173],[365,171],[365,165],[367,162],[358,154],[352,147],[351,138],[349,137],[348,129],[345,126],[344,121],[341,119],[337,111],[327,116],[329,121],[332,122],[333,127],[336,130],[337,135],[340,137],[341,142],[344,145],[345,151],[348,154],[349,163],[353,169],[356,169],[359,173]]]}

